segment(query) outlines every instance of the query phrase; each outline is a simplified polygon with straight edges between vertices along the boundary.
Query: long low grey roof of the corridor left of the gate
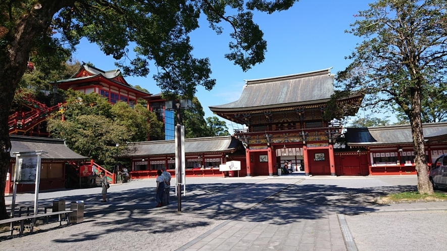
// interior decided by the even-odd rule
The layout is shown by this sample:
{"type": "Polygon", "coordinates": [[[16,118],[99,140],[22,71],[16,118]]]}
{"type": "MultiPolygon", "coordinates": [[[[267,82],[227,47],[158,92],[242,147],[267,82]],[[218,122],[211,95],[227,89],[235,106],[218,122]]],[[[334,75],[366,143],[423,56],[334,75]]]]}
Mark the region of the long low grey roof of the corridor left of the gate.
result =
{"type": "MultiPolygon", "coordinates": [[[[130,152],[122,157],[175,154],[175,141],[145,141],[128,144],[130,152]]],[[[232,136],[185,139],[185,154],[234,152],[243,148],[242,143],[232,136]]]]}

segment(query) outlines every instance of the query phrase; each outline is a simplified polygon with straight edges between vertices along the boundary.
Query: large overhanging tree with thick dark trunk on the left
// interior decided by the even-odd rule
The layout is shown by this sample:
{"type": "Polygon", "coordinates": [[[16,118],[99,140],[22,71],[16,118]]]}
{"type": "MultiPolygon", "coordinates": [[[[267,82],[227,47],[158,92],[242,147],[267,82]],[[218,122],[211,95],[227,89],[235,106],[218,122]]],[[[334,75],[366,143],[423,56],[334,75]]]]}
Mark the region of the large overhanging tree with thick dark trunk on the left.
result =
{"type": "MultiPolygon", "coordinates": [[[[222,21],[229,24],[232,41],[225,57],[246,71],[264,60],[267,48],[253,21],[254,11],[271,14],[297,1],[0,1],[0,189],[5,187],[11,158],[8,115],[31,52],[36,62],[46,61],[45,66],[60,64],[86,37],[117,60],[130,58],[118,61],[125,74],[146,76],[153,64],[164,93],[192,98],[197,85],[211,90],[216,83],[210,77],[209,59],[192,55],[188,34],[199,27],[201,14],[218,34],[223,32],[222,21]]],[[[0,193],[0,219],[7,217],[0,193]]]]}

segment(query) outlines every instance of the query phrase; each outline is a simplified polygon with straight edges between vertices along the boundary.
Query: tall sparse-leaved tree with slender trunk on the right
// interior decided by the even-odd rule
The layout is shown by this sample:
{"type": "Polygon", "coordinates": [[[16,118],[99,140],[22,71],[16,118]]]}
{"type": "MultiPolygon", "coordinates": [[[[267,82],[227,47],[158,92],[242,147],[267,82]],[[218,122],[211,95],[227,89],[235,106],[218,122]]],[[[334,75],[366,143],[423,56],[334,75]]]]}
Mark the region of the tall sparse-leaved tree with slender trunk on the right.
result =
{"type": "Polygon", "coordinates": [[[411,125],[418,191],[433,194],[421,103],[447,76],[447,2],[379,0],[369,6],[347,31],[364,40],[348,56],[352,63],[337,74],[337,83],[364,93],[365,106],[402,109],[411,125]]]}

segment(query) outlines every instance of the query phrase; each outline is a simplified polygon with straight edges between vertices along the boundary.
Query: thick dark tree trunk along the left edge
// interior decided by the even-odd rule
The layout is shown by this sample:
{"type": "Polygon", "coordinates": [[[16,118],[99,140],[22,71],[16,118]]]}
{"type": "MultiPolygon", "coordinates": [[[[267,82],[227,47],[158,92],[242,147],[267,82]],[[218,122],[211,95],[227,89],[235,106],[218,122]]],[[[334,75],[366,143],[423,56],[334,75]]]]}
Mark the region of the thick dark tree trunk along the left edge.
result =
{"type": "MultiPolygon", "coordinates": [[[[6,46],[0,47],[0,219],[9,218],[5,205],[6,177],[10,166],[11,141],[8,116],[18,83],[26,71],[33,41],[48,30],[53,16],[74,1],[47,0],[14,20],[14,27],[2,37],[6,46]]],[[[25,11],[25,10],[24,10],[25,11]]],[[[13,20],[11,20],[13,21],[13,20]]],[[[10,175],[10,178],[12,176],[10,175]]]]}

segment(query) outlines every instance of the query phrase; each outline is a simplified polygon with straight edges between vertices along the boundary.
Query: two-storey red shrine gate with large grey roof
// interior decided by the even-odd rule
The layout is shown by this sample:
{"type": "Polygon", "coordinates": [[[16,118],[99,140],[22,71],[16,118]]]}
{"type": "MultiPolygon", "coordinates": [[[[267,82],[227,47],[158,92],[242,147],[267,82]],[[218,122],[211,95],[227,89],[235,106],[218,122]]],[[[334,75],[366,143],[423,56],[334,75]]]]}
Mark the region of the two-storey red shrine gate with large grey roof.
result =
{"type": "MultiPolygon", "coordinates": [[[[234,136],[245,146],[247,176],[272,176],[285,162],[306,175],[336,175],[333,145],[342,127],[323,117],[334,93],[330,69],[247,80],[237,101],[210,106],[215,114],[246,126],[234,136]]],[[[337,105],[362,100],[363,95],[353,93],[337,105]]]]}

